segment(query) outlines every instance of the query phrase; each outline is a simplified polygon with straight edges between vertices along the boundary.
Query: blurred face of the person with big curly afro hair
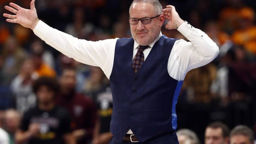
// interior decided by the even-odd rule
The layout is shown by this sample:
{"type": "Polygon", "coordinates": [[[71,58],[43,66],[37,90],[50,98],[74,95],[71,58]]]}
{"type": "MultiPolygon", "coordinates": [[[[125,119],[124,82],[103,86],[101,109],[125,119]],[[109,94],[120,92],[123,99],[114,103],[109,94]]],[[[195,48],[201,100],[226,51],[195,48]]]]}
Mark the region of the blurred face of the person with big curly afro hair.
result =
{"type": "Polygon", "coordinates": [[[54,99],[54,92],[53,90],[49,89],[47,86],[42,85],[36,92],[38,102],[44,105],[48,105],[53,102],[54,99]]]}

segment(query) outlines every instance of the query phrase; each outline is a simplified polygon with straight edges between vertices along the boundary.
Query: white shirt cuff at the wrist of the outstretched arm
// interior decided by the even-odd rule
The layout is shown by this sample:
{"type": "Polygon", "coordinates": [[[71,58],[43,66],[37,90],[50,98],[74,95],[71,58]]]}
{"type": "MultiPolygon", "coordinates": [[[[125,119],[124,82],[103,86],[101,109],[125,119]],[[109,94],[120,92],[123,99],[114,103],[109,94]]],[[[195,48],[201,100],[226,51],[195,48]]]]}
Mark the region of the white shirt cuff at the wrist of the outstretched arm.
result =
{"type": "Polygon", "coordinates": [[[39,20],[39,22],[37,23],[37,25],[35,26],[33,32],[35,33],[35,35],[37,35],[39,38],[43,39],[45,38],[48,30],[51,27],[48,26],[46,23],[44,23],[43,21],[39,20]]]}

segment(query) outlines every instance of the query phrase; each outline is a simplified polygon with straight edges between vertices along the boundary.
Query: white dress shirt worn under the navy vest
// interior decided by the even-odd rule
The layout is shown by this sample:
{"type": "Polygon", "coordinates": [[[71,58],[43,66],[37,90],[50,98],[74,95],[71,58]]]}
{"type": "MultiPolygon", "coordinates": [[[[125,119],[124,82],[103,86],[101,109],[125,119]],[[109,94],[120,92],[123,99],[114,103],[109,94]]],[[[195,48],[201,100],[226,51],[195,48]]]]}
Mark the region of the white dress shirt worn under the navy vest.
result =
{"type": "MultiPolygon", "coordinates": [[[[80,40],[51,28],[41,20],[33,31],[39,38],[61,53],[78,62],[98,66],[103,70],[107,78],[110,77],[118,38],[97,42],[80,40]]],[[[219,54],[219,48],[207,34],[192,27],[188,22],[182,23],[178,31],[190,42],[181,39],[174,43],[167,69],[172,78],[181,81],[184,80],[189,70],[204,66],[216,58],[219,54]]],[[[162,33],[160,32],[158,38],[149,44],[150,48],[143,51],[145,59],[161,36],[162,33]]],[[[138,51],[138,46],[139,44],[134,41],[133,57],[138,51]]],[[[131,57],[131,67],[133,57],[131,57]]],[[[128,133],[132,133],[131,130],[128,133]]]]}

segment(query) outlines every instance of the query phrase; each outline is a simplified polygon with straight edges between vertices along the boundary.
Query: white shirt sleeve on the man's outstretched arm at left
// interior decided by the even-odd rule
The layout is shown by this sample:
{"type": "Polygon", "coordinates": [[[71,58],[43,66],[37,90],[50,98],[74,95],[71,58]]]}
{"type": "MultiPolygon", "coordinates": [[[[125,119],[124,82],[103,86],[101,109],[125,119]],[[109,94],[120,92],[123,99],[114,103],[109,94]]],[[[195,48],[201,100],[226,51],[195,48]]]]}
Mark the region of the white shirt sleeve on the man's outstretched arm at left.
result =
{"type": "Polygon", "coordinates": [[[99,66],[106,76],[110,77],[118,38],[97,42],[81,40],[53,29],[41,20],[33,32],[61,53],[83,64],[99,66]]]}

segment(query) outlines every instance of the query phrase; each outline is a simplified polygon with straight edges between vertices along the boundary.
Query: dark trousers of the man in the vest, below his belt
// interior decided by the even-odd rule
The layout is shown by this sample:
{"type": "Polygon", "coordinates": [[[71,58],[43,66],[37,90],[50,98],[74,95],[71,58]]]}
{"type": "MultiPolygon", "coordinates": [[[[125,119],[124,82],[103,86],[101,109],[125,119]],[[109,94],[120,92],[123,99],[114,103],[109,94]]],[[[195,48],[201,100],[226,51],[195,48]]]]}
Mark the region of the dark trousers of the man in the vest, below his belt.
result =
{"type": "Polygon", "coordinates": [[[129,142],[115,139],[115,136],[110,140],[109,144],[179,144],[175,131],[161,134],[157,137],[150,138],[144,142],[129,142]]]}

